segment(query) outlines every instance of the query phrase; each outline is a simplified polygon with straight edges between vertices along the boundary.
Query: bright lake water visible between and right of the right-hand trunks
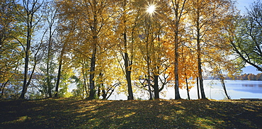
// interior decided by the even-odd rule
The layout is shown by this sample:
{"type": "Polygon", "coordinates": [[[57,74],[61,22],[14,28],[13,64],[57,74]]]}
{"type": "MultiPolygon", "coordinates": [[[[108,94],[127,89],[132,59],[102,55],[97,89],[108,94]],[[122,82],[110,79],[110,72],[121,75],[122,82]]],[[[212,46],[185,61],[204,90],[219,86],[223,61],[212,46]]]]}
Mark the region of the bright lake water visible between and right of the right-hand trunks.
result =
{"type": "MultiPolygon", "coordinates": [[[[226,80],[227,93],[231,99],[262,99],[262,81],[241,81],[241,80],[226,80]]],[[[205,96],[208,99],[225,99],[222,84],[217,80],[204,80],[205,96]]],[[[174,99],[173,87],[164,89],[165,95],[160,95],[161,99],[174,99]]],[[[186,89],[179,89],[182,99],[187,99],[186,89]]],[[[194,86],[190,89],[190,99],[198,99],[197,89],[194,86]]],[[[147,94],[135,94],[135,98],[149,99],[147,94]]],[[[126,100],[125,94],[112,94],[110,100],[126,100]]]]}

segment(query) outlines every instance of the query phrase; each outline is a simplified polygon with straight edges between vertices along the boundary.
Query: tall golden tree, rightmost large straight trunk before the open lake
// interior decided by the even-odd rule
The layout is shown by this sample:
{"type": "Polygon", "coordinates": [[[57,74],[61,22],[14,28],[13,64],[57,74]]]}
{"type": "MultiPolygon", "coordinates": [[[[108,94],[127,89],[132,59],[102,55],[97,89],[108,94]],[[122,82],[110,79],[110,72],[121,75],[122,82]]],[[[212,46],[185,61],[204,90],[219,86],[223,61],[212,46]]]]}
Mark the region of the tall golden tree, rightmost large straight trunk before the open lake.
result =
{"type": "Polygon", "coordinates": [[[229,15],[231,9],[231,1],[190,1],[190,15],[188,18],[191,21],[192,35],[195,42],[195,50],[198,59],[198,78],[200,82],[201,98],[205,99],[203,87],[203,63],[205,55],[208,55],[208,50],[212,47],[219,46],[217,36],[220,27],[223,24],[225,16],[229,15]],[[204,54],[205,53],[205,54],[204,54]]]}

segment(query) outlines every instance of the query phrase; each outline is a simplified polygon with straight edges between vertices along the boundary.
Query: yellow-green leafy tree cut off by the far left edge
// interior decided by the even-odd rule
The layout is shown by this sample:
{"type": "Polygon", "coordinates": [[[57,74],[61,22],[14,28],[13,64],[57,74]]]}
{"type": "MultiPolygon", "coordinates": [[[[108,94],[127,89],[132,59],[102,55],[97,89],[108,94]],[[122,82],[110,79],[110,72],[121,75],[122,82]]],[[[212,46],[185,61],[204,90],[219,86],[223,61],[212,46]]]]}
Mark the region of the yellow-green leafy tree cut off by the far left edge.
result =
{"type": "MultiPolygon", "coordinates": [[[[15,1],[2,1],[0,4],[0,98],[8,94],[8,85],[21,81],[19,67],[21,67],[21,45],[16,41],[22,36],[21,19],[13,4],[15,1]]],[[[20,10],[21,6],[17,5],[20,10]]]]}

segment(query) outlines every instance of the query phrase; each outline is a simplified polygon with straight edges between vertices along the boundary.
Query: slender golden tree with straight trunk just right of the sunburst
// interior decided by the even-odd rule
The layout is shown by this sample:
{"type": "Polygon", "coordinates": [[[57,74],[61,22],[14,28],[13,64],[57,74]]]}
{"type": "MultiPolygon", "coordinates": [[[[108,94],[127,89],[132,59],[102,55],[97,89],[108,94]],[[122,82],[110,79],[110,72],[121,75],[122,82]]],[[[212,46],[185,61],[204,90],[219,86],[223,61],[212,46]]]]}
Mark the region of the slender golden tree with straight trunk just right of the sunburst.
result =
{"type": "Polygon", "coordinates": [[[163,18],[167,23],[169,28],[169,38],[170,43],[173,43],[173,73],[175,79],[175,99],[181,99],[179,94],[179,76],[178,76],[178,57],[179,55],[179,47],[183,42],[183,35],[184,35],[184,19],[186,18],[188,1],[187,0],[171,0],[167,2],[169,6],[169,11],[163,11],[163,18]]]}

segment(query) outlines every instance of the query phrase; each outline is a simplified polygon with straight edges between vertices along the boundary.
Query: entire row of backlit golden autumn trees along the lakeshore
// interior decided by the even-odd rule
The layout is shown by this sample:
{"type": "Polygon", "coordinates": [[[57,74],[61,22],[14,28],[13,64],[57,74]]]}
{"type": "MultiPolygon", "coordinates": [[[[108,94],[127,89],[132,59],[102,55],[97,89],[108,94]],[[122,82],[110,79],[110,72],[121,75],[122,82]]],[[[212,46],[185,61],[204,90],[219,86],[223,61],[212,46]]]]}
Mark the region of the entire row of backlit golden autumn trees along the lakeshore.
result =
{"type": "Polygon", "coordinates": [[[169,86],[190,99],[197,85],[205,99],[204,73],[224,83],[222,72],[233,77],[245,63],[262,71],[261,9],[256,1],[240,16],[231,0],[2,2],[1,97],[159,99],[169,86]]]}

